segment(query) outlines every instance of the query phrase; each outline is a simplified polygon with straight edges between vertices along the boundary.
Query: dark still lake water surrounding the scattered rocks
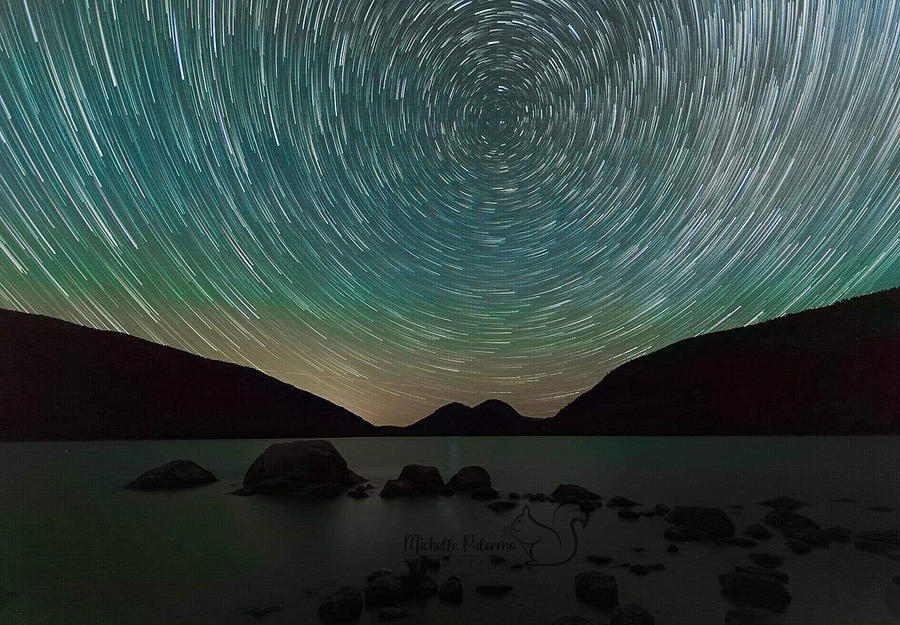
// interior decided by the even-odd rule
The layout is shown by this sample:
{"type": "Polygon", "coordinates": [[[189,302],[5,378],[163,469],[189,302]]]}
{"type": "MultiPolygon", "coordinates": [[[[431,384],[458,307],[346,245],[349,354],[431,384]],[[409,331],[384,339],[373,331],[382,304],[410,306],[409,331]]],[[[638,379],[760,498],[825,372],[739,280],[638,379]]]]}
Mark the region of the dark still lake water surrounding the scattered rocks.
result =
{"type": "MultiPolygon", "coordinates": [[[[496,514],[467,497],[300,502],[235,497],[253,459],[273,441],[149,441],[0,444],[0,622],[28,625],[315,623],[321,598],[337,586],[364,585],[372,570],[411,554],[405,538],[456,542],[437,573],[463,579],[462,605],[437,598],[407,607],[406,623],[547,623],[580,614],[607,620],[579,603],[573,579],[588,554],[666,569],[637,577],[608,568],[620,602],[636,602],[658,625],[723,623],[732,607],[717,576],[749,564],[747,549],[683,544],[665,551],[665,522],[626,522],[615,510],[593,513],[579,530],[578,552],[561,566],[514,571],[521,548],[492,564],[469,540],[508,542],[517,511],[496,514]],[[122,485],[176,458],[210,469],[217,484],[179,492],[136,492],[122,485]],[[644,547],[635,553],[633,547],[644,547]],[[480,583],[508,583],[502,599],[476,595],[480,583]],[[17,596],[4,599],[4,593],[17,596]],[[262,621],[244,613],[277,604],[262,621]]],[[[350,466],[380,489],[402,465],[437,465],[445,479],[466,464],[486,467],[501,493],[551,492],[574,482],[604,498],[626,495],[726,509],[738,527],[761,519],[754,502],[791,495],[823,526],[900,528],[897,438],[402,438],[334,441],[350,466]],[[852,498],[858,503],[834,501],[852,498]],[[743,509],[730,506],[743,505],[743,509]]],[[[530,504],[552,523],[555,506],[530,504]]],[[[756,550],[785,557],[793,596],[785,624],[900,622],[900,562],[832,544],[790,553],[780,538],[756,550]]],[[[752,551],[752,550],[749,550],[752,551]]],[[[377,622],[377,610],[364,623],[377,622]]]]}

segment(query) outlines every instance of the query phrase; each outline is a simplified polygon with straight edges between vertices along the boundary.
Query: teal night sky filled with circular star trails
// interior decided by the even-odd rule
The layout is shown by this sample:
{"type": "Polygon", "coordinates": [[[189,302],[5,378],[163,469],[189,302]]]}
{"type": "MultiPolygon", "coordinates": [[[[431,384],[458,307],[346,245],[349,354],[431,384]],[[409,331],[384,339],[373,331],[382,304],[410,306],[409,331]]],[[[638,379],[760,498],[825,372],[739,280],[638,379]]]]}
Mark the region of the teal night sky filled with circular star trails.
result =
{"type": "Polygon", "coordinates": [[[0,307],[375,423],[900,284],[894,0],[4,0],[0,307]]]}

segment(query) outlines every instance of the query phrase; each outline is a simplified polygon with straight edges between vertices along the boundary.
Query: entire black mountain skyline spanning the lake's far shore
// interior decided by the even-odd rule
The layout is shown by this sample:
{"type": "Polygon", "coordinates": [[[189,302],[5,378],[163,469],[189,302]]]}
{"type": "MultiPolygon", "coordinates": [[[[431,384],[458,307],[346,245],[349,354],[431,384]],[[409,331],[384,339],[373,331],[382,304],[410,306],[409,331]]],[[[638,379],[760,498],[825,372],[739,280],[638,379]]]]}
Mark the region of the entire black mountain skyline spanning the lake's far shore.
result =
{"type": "Polygon", "coordinates": [[[556,416],[499,400],[376,427],[259,371],[0,311],[0,438],[900,434],[900,289],[680,341],[556,416]]]}

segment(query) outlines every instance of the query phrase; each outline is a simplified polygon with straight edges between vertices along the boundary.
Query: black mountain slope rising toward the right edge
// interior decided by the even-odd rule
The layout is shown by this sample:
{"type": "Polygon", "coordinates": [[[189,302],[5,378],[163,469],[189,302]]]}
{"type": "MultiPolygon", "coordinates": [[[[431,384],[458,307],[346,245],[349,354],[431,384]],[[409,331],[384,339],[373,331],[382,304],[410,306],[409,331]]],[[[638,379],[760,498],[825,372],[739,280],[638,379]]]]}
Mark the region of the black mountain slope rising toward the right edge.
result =
{"type": "Polygon", "coordinates": [[[611,371],[546,434],[898,434],[900,289],[675,343],[611,371]]]}

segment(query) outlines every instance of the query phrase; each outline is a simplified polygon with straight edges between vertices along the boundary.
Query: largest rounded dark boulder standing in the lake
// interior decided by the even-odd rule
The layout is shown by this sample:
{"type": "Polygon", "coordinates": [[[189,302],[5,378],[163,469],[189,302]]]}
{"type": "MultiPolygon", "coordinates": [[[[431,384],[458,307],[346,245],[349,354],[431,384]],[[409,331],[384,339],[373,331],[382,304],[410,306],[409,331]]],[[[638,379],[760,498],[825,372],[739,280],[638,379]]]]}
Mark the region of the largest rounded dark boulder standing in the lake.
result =
{"type": "Polygon", "coordinates": [[[329,441],[274,443],[247,469],[238,494],[336,497],[365,481],[329,441]]]}

